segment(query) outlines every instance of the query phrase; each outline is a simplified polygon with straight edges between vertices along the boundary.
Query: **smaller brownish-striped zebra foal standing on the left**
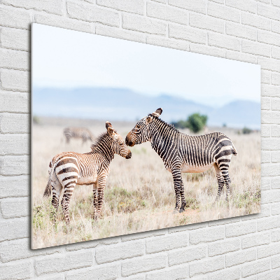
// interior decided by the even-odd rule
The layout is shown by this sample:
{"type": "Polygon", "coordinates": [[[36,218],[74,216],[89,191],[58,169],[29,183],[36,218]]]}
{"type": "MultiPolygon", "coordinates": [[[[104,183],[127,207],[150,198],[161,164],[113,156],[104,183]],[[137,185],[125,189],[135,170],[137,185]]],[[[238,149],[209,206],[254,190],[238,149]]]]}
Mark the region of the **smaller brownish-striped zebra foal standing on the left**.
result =
{"type": "Polygon", "coordinates": [[[62,197],[62,211],[66,224],[69,224],[69,202],[76,185],[93,185],[94,218],[99,218],[104,200],[104,188],[109,175],[109,165],[114,155],[130,159],[132,153],[125,145],[123,138],[106,122],[107,132],[100,135],[92,144],[90,153],[59,153],[52,158],[49,165],[49,179],[45,187],[44,197],[48,197],[52,189],[52,206],[57,212],[59,196],[62,197]]]}

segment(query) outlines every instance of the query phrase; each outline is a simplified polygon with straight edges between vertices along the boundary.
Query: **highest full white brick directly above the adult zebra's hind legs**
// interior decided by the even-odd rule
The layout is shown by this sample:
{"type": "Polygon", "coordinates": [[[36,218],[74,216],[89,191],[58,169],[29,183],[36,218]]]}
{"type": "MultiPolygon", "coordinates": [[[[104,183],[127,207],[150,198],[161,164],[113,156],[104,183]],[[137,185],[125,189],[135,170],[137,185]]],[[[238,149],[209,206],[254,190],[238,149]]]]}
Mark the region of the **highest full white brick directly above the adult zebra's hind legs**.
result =
{"type": "Polygon", "coordinates": [[[208,15],[214,18],[221,18],[223,20],[230,20],[232,22],[240,22],[240,12],[234,8],[223,6],[218,3],[208,3],[208,15]]]}

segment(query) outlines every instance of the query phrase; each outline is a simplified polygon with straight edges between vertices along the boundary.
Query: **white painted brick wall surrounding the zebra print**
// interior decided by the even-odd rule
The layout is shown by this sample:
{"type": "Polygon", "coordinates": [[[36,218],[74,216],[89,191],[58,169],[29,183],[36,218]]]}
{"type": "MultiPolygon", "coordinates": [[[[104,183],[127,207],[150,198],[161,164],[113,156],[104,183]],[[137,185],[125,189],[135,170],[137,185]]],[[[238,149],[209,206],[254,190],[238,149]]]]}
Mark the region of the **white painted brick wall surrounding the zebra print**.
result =
{"type": "Polygon", "coordinates": [[[279,0],[0,1],[0,279],[280,275],[279,0]],[[262,66],[262,213],[31,251],[30,24],[262,66]]]}

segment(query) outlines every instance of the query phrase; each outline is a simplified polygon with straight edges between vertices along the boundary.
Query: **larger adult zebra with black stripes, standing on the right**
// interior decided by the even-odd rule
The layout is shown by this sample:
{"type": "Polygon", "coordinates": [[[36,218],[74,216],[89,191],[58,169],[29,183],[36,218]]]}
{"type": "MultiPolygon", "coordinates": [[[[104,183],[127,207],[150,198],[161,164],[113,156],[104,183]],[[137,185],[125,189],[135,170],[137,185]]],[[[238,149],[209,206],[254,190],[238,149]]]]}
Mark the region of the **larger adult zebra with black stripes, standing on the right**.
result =
{"type": "Polygon", "coordinates": [[[125,142],[128,146],[150,141],[152,148],[160,155],[165,168],[172,173],[176,194],[174,213],[185,211],[186,199],[184,194],[182,172],[200,173],[214,166],[218,180],[218,194],[221,197],[225,184],[227,200],[230,195],[230,176],[228,168],[232,155],[237,150],[232,141],[221,132],[201,136],[189,136],[176,130],[173,125],[165,123],[159,116],[162,109],[156,110],[142,118],[127,134],[125,142]],[[179,209],[181,197],[181,208],[179,209]]]}

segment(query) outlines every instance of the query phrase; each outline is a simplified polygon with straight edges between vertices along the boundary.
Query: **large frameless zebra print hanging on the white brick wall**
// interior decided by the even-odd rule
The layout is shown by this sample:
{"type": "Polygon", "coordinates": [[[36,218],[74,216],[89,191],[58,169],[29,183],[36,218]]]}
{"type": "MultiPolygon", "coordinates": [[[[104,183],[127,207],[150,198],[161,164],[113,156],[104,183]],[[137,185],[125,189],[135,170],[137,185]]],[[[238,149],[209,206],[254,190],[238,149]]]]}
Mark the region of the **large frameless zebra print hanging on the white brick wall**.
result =
{"type": "Polygon", "coordinates": [[[260,212],[260,66],[32,25],[32,248],[260,212]]]}

